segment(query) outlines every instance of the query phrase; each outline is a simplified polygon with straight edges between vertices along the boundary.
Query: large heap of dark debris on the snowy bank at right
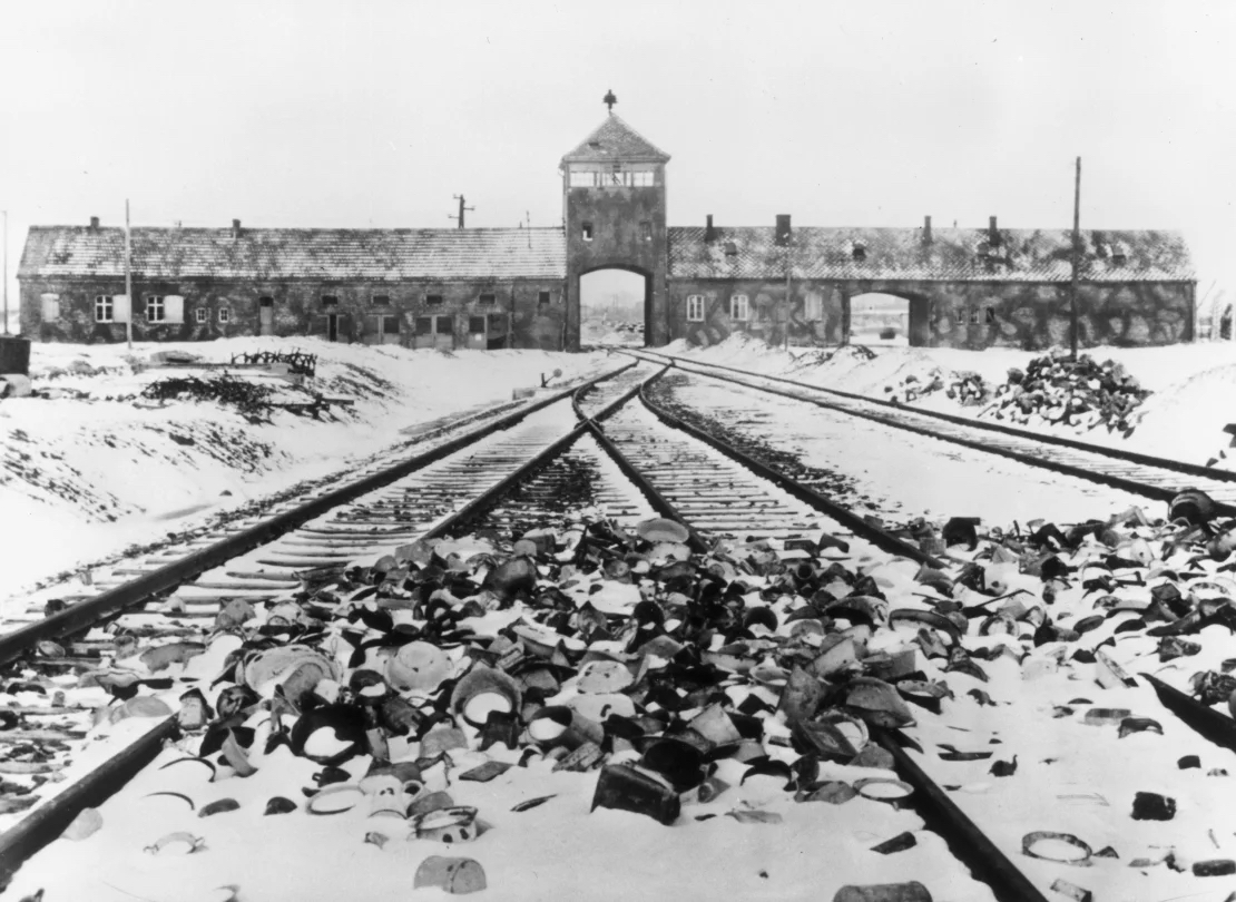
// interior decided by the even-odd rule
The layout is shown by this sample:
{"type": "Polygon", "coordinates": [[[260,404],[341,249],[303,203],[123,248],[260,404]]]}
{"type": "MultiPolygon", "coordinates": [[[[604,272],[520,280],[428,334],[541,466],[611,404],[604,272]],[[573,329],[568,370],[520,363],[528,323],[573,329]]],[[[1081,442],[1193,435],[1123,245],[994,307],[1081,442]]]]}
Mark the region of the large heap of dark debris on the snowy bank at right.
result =
{"type": "Polygon", "coordinates": [[[1007,382],[996,387],[993,403],[979,416],[1079,431],[1106,426],[1127,437],[1141,419],[1137,408],[1149,394],[1121,363],[1095,363],[1086,355],[1072,362],[1064,352],[1053,351],[1032,360],[1025,372],[1010,369],[1007,382]]]}

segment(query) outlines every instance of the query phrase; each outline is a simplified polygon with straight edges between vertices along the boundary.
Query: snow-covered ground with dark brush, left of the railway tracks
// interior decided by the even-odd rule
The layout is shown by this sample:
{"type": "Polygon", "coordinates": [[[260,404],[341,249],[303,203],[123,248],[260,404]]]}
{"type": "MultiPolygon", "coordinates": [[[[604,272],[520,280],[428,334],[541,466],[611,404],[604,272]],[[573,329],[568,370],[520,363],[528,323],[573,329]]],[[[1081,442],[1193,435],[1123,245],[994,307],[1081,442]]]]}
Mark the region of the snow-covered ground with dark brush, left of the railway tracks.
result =
{"type": "MultiPolygon", "coordinates": [[[[286,489],[325,477],[409,436],[400,430],[455,411],[510,402],[512,390],[612,368],[606,353],[413,351],[316,339],[247,337],[214,342],[35,344],[36,393],[0,399],[0,598],[135,542],[182,531],[286,489]],[[185,351],[230,362],[255,351],[318,356],[305,388],[355,398],[320,420],[276,410],[251,423],[215,403],[141,395],[169,377],[203,371],[143,368],[152,353],[185,351]]],[[[261,379],[261,377],[255,377],[261,379]]],[[[283,379],[288,400],[309,400],[283,379]]]]}

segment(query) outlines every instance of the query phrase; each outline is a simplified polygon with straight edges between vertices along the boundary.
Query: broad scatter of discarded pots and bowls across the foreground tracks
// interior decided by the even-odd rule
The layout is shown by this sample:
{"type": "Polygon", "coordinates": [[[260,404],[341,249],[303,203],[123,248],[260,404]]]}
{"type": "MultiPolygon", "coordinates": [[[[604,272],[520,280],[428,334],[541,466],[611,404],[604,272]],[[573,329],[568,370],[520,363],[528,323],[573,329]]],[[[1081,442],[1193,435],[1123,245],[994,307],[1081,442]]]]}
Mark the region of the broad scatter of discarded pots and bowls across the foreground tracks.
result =
{"type": "MultiPolygon", "coordinates": [[[[1065,793],[1007,850],[1044,887],[1158,898],[1161,875],[1187,893],[1188,879],[1230,872],[1236,848],[1216,837],[1230,835],[1236,781],[1205,743],[1183,740],[1204,761],[1184,764],[1183,728],[1164,729],[1167,712],[1131,675],[1156,657],[1163,680],[1231,704],[1236,524],[1184,492],[1166,521],[1132,509],[1070,526],[953,518],[897,533],[942,566],[859,556],[828,535],[706,547],[666,520],[628,533],[569,518],[509,547],[492,534],[420,541],[372,566],[304,572],[294,597],[231,602],[204,641],[119,635],[114,666],[82,678],[111,687],[101,718],[157,715],[132,697],[136,677],[192,681],[163,694],[178,699],[185,738],[142,802],[187,799],[183,823],[132,838],[132,854],[209,854],[205,824],[239,825],[237,809],[245,823],[336,814],[351,824],[339,841],[358,848],[363,834],[383,854],[428,841],[414,846],[417,883],[472,892],[493,882],[502,844],[536,854],[545,809],[633,812],[648,818],[643,834],[718,816],[790,829],[815,812],[831,827],[812,848],[840,864],[816,874],[811,898],[929,900],[965,879],[941,871],[938,837],[905,823],[917,790],[895,766],[908,743],[983,824],[1065,793]],[[1137,766],[1090,766],[1115,760],[1137,766]],[[1078,795],[1067,777],[1083,772],[1078,795]],[[559,798],[581,791],[591,806],[559,798]],[[1091,797],[1110,806],[1103,817],[1091,797]],[[896,869],[918,882],[889,888],[873,856],[843,854],[857,841],[921,862],[896,869]],[[424,858],[446,844],[470,856],[424,858]]],[[[541,854],[528,867],[572,866],[557,845],[541,854]]]]}

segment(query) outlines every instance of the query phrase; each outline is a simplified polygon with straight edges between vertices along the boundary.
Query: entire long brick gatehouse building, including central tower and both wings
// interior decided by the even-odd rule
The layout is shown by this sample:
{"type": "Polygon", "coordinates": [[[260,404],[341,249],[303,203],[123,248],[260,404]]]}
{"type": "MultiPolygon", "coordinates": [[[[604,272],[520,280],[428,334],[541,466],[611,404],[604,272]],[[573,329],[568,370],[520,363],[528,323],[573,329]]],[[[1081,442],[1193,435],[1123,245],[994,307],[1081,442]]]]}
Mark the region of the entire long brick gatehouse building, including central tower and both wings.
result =
{"type": "MultiPolygon", "coordinates": [[[[607,98],[607,101],[609,98],[607,98]]],[[[320,335],[409,347],[578,350],[580,279],[644,278],[645,341],[708,345],[745,331],[837,345],[850,300],[908,301],[911,345],[1067,344],[1068,230],[666,225],[669,154],[618,117],[562,157],[560,229],[124,230],[33,226],[17,278],[21,324],[42,341],[320,335]]],[[[1194,337],[1196,279],[1178,234],[1084,231],[1083,346],[1194,337]]]]}

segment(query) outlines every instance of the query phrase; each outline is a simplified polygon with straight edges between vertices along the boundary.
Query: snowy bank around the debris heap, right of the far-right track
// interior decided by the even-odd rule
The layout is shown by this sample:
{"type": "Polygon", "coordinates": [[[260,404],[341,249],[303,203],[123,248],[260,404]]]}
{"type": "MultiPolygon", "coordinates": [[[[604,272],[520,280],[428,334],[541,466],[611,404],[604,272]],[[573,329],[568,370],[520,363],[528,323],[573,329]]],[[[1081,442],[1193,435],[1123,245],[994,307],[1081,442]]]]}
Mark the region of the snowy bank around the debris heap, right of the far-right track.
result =
{"type": "MultiPolygon", "coordinates": [[[[946,377],[952,372],[975,372],[985,382],[1000,384],[1011,367],[1025,369],[1031,360],[1044,353],[1012,348],[875,347],[871,348],[875,357],[869,360],[855,348],[785,351],[745,336],[733,336],[708,348],[676,341],[661,350],[873,398],[886,398],[885,388],[897,386],[907,376],[926,381],[937,369],[946,377]]],[[[1153,392],[1141,408],[1140,425],[1128,439],[1104,428],[1078,431],[1044,424],[1037,428],[1039,431],[1198,465],[1206,463],[1230,444],[1231,436],[1224,432],[1224,426],[1236,423],[1236,342],[1095,347],[1083,353],[1096,362],[1114,360],[1124,365],[1143,388],[1153,392]]],[[[962,407],[943,392],[925,395],[915,405],[969,416],[981,410],[981,407],[962,407]]]]}

